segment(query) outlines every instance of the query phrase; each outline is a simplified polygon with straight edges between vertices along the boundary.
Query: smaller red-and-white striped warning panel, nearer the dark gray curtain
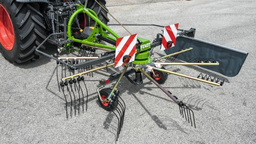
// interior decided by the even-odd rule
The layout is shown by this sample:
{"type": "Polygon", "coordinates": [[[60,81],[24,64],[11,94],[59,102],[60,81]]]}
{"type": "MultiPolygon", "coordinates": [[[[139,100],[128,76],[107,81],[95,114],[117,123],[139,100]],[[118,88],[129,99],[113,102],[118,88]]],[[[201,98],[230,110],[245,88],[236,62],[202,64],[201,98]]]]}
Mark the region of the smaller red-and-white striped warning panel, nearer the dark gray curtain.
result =
{"type": "Polygon", "coordinates": [[[164,27],[161,51],[175,46],[178,26],[179,23],[164,27]]]}

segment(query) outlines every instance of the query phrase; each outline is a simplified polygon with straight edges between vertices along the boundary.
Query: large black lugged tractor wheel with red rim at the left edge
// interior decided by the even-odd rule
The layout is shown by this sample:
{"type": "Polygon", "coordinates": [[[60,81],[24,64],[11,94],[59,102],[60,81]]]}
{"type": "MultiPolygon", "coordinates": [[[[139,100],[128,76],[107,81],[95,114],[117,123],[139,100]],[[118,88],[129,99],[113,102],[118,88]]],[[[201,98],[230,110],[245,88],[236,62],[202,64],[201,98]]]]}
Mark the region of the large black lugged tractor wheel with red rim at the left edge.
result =
{"type": "Polygon", "coordinates": [[[10,62],[38,59],[35,48],[46,38],[39,4],[0,0],[0,34],[0,51],[10,62]]]}

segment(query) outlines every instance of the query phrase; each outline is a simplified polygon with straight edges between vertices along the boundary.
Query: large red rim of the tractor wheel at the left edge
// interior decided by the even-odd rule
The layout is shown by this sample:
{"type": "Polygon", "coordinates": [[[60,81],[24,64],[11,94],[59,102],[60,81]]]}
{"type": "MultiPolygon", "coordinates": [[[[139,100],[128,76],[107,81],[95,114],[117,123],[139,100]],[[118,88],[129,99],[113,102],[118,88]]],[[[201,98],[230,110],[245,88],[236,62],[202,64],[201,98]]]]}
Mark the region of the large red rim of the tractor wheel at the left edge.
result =
{"type": "Polygon", "coordinates": [[[14,29],[11,18],[5,8],[0,4],[0,42],[3,48],[10,51],[14,45],[14,29]]]}

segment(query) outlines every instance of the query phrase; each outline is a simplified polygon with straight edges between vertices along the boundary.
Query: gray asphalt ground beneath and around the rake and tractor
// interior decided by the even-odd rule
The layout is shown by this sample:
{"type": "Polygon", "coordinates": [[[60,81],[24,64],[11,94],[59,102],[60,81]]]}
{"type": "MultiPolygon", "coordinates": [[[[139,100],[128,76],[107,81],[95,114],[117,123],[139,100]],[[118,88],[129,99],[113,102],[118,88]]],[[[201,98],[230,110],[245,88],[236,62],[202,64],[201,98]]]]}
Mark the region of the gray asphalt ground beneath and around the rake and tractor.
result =
{"type": "MultiPolygon", "coordinates": [[[[75,116],[73,105],[72,118],[69,116],[67,120],[54,60],[41,56],[38,61],[13,65],[0,56],[0,143],[256,143],[255,0],[106,1],[110,13],[122,23],[163,26],[179,23],[180,29],[196,28],[196,38],[248,51],[249,55],[236,77],[217,74],[227,80],[221,87],[168,75],[163,86],[193,110],[196,128],[182,118],[178,106],[146,77],[143,76],[144,84],[140,86],[122,78],[118,89],[125,100],[126,113],[117,142],[117,119],[100,108],[96,94],[98,80],[116,70],[107,73],[105,69],[93,77],[86,76],[88,111],[75,116]]],[[[116,22],[110,18],[110,23],[116,22]]],[[[129,35],[119,26],[111,28],[120,36],[129,35]]],[[[127,28],[151,41],[161,33],[161,28],[152,26],[127,28]]],[[[54,46],[46,51],[59,56],[54,46]]],[[[164,54],[159,47],[154,52],[155,57],[164,54]]],[[[168,66],[166,69],[193,77],[205,72],[200,67],[168,66]]],[[[67,100],[70,115],[70,99],[67,100]]]]}

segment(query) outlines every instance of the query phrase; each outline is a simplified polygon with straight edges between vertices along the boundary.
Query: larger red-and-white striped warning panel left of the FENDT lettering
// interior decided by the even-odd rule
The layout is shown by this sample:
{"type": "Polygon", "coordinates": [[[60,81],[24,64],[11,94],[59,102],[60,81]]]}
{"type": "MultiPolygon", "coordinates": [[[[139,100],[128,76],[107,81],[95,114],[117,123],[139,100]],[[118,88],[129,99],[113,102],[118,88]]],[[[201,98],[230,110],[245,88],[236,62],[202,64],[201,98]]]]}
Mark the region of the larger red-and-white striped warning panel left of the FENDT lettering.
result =
{"type": "Polygon", "coordinates": [[[116,39],[115,67],[134,61],[137,34],[116,39]]]}

